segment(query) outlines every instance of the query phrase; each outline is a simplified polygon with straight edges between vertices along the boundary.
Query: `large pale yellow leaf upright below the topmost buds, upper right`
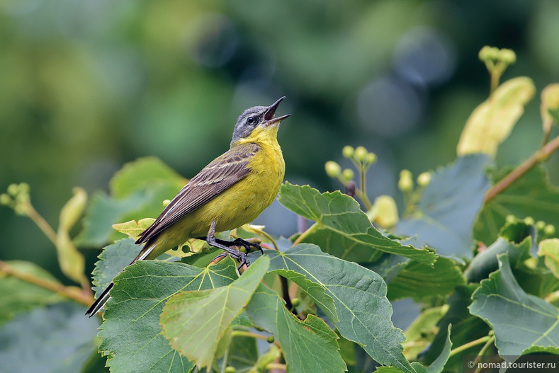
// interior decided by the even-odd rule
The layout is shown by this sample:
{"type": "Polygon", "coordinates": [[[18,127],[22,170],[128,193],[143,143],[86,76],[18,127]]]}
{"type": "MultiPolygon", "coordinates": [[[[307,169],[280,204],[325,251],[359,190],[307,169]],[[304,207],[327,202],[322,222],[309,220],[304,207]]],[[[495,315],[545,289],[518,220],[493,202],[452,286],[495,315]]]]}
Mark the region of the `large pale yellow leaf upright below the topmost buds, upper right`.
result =
{"type": "Polygon", "coordinates": [[[536,88],[526,76],[501,84],[468,118],[458,142],[458,156],[485,153],[495,156],[497,147],[509,137],[512,128],[524,113],[536,88]]]}

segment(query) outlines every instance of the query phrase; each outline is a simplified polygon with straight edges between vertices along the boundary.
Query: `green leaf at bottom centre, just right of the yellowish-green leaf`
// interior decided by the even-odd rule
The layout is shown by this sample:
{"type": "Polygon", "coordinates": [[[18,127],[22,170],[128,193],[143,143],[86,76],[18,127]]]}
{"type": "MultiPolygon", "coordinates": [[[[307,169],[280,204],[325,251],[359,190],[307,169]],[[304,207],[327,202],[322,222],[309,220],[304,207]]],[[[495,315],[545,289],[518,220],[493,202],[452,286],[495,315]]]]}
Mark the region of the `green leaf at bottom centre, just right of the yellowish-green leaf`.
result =
{"type": "Polygon", "coordinates": [[[260,285],[247,314],[255,326],[273,334],[280,343],[287,372],[344,372],[346,364],[339,355],[338,336],[312,314],[300,321],[286,309],[276,292],[260,285]]]}

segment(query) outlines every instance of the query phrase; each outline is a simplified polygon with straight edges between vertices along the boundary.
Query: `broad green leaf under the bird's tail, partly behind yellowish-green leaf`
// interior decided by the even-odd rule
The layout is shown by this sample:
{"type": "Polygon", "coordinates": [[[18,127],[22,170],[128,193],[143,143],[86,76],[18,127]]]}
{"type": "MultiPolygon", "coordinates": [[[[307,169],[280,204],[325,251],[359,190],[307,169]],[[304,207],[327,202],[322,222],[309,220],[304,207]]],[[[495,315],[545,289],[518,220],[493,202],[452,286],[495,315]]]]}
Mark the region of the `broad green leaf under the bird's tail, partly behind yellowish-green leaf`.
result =
{"type": "Polygon", "coordinates": [[[108,355],[111,372],[188,372],[193,364],[161,334],[164,303],[183,290],[229,285],[237,279],[235,266],[225,258],[210,268],[160,260],[141,260],[125,268],[113,281],[98,334],[99,350],[108,355]]]}

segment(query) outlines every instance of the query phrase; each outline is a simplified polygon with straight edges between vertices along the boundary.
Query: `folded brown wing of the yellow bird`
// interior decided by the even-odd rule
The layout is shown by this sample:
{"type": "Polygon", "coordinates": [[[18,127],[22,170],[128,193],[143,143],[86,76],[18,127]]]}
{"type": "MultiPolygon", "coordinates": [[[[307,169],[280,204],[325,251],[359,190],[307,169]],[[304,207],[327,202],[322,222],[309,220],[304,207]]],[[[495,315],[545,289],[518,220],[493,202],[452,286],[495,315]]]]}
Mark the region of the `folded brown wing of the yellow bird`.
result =
{"type": "Polygon", "coordinates": [[[145,243],[154,238],[166,227],[179,221],[247,176],[250,171],[249,160],[258,150],[259,147],[256,144],[243,144],[229,149],[214,159],[184,185],[153,224],[142,232],[136,243],[145,243]]]}

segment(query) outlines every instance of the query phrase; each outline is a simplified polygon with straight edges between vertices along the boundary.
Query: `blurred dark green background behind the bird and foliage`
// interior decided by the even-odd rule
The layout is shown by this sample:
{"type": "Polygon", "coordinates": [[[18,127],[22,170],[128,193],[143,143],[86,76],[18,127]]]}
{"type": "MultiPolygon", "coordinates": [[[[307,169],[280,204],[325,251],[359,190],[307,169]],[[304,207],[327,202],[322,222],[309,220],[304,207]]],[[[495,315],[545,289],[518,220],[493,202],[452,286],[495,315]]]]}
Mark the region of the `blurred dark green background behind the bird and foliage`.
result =
{"type": "MultiPolygon", "coordinates": [[[[191,177],[229,147],[242,110],[287,96],[287,180],[340,188],[324,162],[349,166],[341,147],[364,145],[379,159],[370,196],[397,196],[402,168],[456,156],[489,91],[483,45],[515,50],[503,79],[538,88],[497,156],[519,163],[541,142],[539,91],[559,81],[558,20],[556,0],[1,0],[0,190],[29,183],[56,227],[74,186],[106,190],[123,163],[149,155],[191,177]]],[[[556,155],[550,170],[557,182],[556,155]]],[[[1,208],[0,221],[1,259],[60,275],[29,219],[1,208]]],[[[259,222],[295,229],[277,205],[259,222]]]]}

